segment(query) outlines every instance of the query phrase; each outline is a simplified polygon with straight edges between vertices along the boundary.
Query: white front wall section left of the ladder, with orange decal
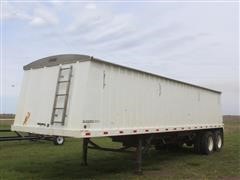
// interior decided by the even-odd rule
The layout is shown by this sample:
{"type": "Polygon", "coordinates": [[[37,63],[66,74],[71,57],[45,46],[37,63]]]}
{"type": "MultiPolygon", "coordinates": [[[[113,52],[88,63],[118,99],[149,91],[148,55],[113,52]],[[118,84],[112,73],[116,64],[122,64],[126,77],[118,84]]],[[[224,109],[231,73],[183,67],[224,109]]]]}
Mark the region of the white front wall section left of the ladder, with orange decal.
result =
{"type": "Polygon", "coordinates": [[[59,67],[24,72],[15,126],[50,123],[59,67]]]}

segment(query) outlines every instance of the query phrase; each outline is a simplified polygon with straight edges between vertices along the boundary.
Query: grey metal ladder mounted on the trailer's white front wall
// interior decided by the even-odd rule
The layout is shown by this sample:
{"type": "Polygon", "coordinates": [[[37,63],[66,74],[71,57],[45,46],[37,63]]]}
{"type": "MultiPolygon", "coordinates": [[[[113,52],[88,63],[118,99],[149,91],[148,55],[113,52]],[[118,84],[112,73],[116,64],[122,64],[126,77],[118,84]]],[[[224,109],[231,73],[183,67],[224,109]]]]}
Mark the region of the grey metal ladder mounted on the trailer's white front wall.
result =
{"type": "Polygon", "coordinates": [[[53,125],[55,123],[64,125],[64,123],[65,123],[71,77],[72,77],[72,66],[64,67],[64,68],[60,67],[59,72],[58,72],[57,86],[56,86],[56,92],[55,92],[55,98],[54,98],[54,104],[53,104],[51,125],[53,125]],[[68,80],[61,80],[61,78],[64,77],[62,75],[63,71],[68,71],[68,80]],[[66,89],[64,89],[65,93],[59,93],[59,86],[61,83],[66,83],[66,89]],[[63,107],[56,107],[60,96],[64,97],[63,107]],[[62,111],[62,118],[60,121],[55,120],[55,118],[58,117],[58,114],[56,114],[56,110],[62,111]]]}

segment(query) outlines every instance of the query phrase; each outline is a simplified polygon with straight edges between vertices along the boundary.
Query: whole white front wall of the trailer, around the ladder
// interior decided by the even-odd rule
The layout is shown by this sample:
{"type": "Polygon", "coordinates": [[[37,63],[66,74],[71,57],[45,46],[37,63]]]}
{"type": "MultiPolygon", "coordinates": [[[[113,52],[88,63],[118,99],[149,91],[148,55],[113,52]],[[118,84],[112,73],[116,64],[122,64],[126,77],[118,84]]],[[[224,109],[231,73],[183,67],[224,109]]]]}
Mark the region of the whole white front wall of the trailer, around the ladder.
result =
{"type": "MultiPolygon", "coordinates": [[[[25,71],[12,130],[61,136],[73,136],[73,131],[79,134],[79,128],[82,128],[83,105],[87,101],[85,92],[89,64],[90,61],[84,61],[25,71]],[[51,124],[59,69],[70,66],[73,67],[73,72],[65,123],[51,124]]],[[[67,76],[63,72],[62,80],[66,80],[67,76]]],[[[66,84],[60,84],[58,94],[65,93],[64,86],[66,84]]],[[[56,107],[63,107],[64,98],[61,96],[58,98],[56,107]]],[[[57,115],[55,120],[60,121],[62,111],[56,111],[55,114],[57,115]]]]}

